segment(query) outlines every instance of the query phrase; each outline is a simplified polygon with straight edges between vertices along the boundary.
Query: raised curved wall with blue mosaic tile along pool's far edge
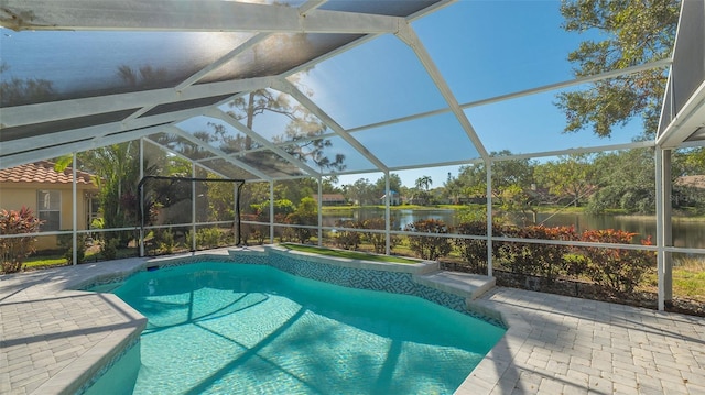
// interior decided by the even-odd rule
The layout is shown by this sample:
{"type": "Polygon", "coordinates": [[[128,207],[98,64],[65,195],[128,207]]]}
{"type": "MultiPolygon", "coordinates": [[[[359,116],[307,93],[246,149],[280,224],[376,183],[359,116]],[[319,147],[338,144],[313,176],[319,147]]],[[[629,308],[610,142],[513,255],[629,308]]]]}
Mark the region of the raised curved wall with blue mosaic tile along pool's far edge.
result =
{"type": "Polygon", "coordinates": [[[420,260],[417,263],[361,261],[301,252],[278,244],[227,250],[227,255],[200,252],[155,257],[129,272],[94,277],[91,282],[83,284],[79,289],[121,282],[137,272],[152,267],[180,266],[207,261],[269,265],[295,276],[345,287],[417,296],[507,328],[499,312],[473,304],[474,298],[495,285],[491,277],[471,275],[482,278],[479,290],[477,286],[466,286],[463,282],[455,282],[457,284],[448,286],[447,282],[444,282],[447,278],[436,278],[448,272],[440,271],[438,262],[434,261],[420,260]]]}

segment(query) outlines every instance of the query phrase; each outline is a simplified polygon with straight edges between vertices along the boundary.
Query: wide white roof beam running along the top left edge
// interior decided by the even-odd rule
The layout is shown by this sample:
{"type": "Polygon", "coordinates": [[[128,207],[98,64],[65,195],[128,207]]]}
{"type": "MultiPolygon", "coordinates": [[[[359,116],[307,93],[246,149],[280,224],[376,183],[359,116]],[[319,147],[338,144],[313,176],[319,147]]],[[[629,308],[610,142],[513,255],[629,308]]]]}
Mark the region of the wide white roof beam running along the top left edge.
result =
{"type": "Polygon", "coordinates": [[[0,24],[15,30],[394,33],[405,19],[238,1],[3,0],[0,24]]]}

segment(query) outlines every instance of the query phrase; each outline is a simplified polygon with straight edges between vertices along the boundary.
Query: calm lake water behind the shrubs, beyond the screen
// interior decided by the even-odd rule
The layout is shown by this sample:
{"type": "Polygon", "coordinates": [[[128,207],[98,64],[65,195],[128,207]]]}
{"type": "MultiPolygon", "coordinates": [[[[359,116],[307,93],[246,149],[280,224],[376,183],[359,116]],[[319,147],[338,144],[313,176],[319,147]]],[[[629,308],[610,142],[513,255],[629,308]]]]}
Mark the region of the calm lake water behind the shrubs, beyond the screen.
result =
{"type": "MultiPolygon", "coordinates": [[[[423,220],[437,219],[447,224],[456,226],[455,210],[392,210],[391,215],[394,219],[392,229],[403,229],[406,224],[423,220]]],[[[323,226],[333,227],[338,220],[362,221],[370,218],[379,218],[384,216],[383,209],[378,208],[360,208],[355,209],[344,217],[339,212],[323,213],[323,226]]],[[[651,235],[651,240],[655,244],[657,240],[657,220],[655,216],[610,216],[600,215],[592,216],[587,213],[539,213],[536,222],[546,227],[574,226],[576,231],[598,229],[620,229],[628,232],[638,233],[634,242],[651,235]]],[[[682,218],[674,218],[673,226],[673,245],[681,248],[705,249],[705,221],[693,221],[682,218]]]]}

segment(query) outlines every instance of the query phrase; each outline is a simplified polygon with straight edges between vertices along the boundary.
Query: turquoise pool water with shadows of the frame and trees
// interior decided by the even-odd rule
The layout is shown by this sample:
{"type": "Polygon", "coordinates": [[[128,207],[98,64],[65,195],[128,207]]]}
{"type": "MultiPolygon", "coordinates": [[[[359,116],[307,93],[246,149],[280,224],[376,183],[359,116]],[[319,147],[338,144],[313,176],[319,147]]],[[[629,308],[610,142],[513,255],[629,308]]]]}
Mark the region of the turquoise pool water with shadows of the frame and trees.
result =
{"type": "Polygon", "coordinates": [[[112,292],[148,317],[128,355],[141,365],[117,363],[88,393],[107,380],[126,394],[452,394],[505,333],[422,298],[265,265],[141,272],[112,292]]]}

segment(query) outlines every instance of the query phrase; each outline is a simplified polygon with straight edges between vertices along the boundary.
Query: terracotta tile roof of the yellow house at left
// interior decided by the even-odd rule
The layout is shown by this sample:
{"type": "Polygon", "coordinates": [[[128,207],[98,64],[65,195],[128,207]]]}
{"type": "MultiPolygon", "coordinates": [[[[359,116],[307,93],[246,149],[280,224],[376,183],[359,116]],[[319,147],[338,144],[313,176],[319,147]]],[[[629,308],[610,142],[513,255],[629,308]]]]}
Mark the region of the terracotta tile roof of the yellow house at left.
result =
{"type": "MultiPolygon", "coordinates": [[[[70,167],[56,172],[54,163],[40,161],[0,169],[0,183],[72,184],[72,172],[70,167]]],[[[76,172],[76,184],[93,185],[91,175],[86,172],[76,172]]]]}

